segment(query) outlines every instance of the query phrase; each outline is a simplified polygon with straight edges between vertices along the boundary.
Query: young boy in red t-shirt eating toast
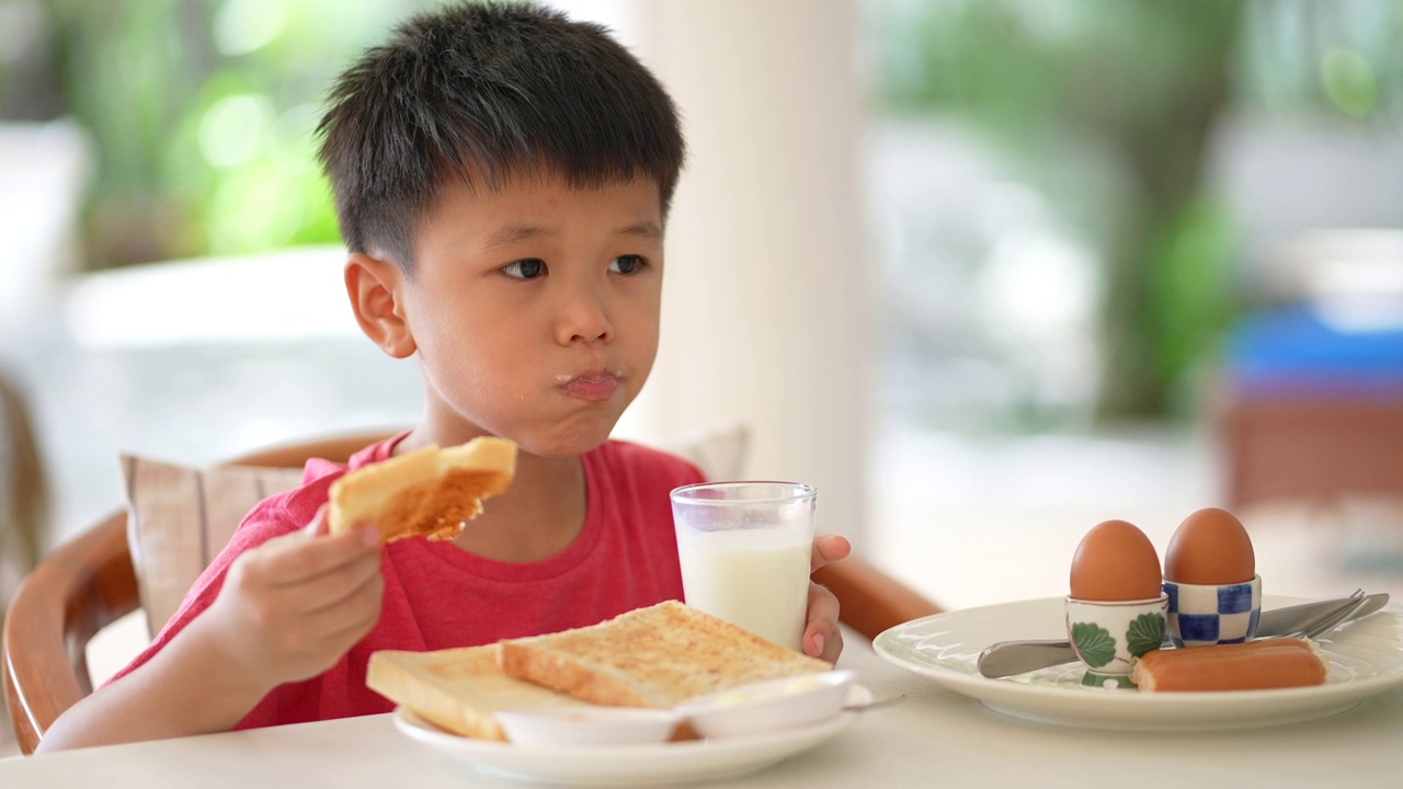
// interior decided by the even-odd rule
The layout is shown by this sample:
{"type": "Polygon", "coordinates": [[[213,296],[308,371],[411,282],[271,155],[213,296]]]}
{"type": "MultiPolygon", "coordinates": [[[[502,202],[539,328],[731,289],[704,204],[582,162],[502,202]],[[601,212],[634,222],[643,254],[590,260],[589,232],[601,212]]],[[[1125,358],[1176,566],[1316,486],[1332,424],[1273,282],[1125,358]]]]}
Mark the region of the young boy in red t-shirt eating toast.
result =
{"type": "MultiPolygon", "coordinates": [[[[672,101],[607,34],[519,4],[410,20],[337,83],[321,160],[361,329],[424,380],[419,423],[349,469],[499,435],[511,489],[453,542],[331,536],[327,489],[261,503],[153,644],[41,750],[389,712],[370,653],[591,625],[682,581],[668,491],[685,460],[609,441],[652,368],[662,227],[683,160],[672,101]]],[[[814,566],[845,539],[815,541],[814,566]]],[[[833,661],[810,587],[804,651],[833,661]]]]}

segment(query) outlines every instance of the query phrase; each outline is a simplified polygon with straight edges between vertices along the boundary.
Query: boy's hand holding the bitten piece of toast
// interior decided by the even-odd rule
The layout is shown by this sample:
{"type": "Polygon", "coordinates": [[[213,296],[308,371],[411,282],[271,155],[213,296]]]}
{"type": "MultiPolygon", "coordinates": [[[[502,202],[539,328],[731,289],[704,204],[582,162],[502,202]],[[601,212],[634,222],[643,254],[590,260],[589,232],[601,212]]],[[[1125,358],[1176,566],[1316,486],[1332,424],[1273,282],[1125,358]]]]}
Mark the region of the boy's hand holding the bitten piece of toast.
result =
{"type": "Polygon", "coordinates": [[[325,507],[302,531],[239,556],[199,619],[222,650],[269,689],[330,668],[380,618],[380,538],[327,533],[325,507]]]}

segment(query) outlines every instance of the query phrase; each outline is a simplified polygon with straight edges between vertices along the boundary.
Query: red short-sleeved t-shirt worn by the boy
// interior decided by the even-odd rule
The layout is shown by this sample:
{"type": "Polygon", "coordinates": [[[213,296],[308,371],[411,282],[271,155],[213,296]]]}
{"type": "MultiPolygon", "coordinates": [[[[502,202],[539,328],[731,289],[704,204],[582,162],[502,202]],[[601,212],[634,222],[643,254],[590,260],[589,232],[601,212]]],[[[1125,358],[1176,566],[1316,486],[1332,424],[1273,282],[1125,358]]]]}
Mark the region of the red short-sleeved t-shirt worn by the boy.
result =
{"type": "MultiPolygon", "coordinates": [[[[348,466],[309,460],[302,487],[261,501],[244,518],[156,640],[116,677],[150,660],[209,608],[236,556],[303,528],[327,501],[335,479],[387,459],[400,438],[362,449],[348,466]]],[[[236,729],[389,712],[391,702],[365,687],[366,663],[377,650],[488,644],[682,599],[668,493],[703,482],[702,472],[680,458],[622,441],[605,442],[581,462],[588,508],[584,529],[570,548],[542,562],[508,563],[448,542],[411,538],[390,543],[380,562],[384,602],[375,629],[324,674],[275,688],[236,729]]]]}

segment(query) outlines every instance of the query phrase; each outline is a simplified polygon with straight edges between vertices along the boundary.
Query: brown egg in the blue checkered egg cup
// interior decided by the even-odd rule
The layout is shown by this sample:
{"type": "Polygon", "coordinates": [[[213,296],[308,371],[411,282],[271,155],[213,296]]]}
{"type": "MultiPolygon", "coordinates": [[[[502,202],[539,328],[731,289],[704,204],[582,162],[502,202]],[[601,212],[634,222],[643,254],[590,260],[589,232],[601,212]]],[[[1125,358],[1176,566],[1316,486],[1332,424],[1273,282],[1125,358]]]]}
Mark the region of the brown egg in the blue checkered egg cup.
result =
{"type": "Polygon", "coordinates": [[[1164,553],[1164,577],[1180,584],[1240,584],[1257,573],[1242,521],[1207,507],[1184,518],[1164,553]]]}

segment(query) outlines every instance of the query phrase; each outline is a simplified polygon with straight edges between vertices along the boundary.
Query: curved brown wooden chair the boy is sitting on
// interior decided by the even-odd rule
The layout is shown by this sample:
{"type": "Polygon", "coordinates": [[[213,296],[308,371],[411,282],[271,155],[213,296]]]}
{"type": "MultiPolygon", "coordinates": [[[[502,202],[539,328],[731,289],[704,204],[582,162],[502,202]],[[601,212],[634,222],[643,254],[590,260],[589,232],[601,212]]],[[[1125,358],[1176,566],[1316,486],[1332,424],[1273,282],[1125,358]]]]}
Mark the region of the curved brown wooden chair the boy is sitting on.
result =
{"type": "MultiPolygon", "coordinates": [[[[229,465],[300,468],[307,458],[345,460],[386,438],[348,435],[274,446],[229,465]]],[[[940,608],[859,557],[815,574],[842,604],[842,621],[864,637],[940,608]]],[[[126,539],[126,511],[118,510],[60,545],[21,584],[4,621],[3,671],[10,719],[20,748],[32,754],[65,709],[93,692],[87,643],[102,628],[140,606],[126,539]]]]}

